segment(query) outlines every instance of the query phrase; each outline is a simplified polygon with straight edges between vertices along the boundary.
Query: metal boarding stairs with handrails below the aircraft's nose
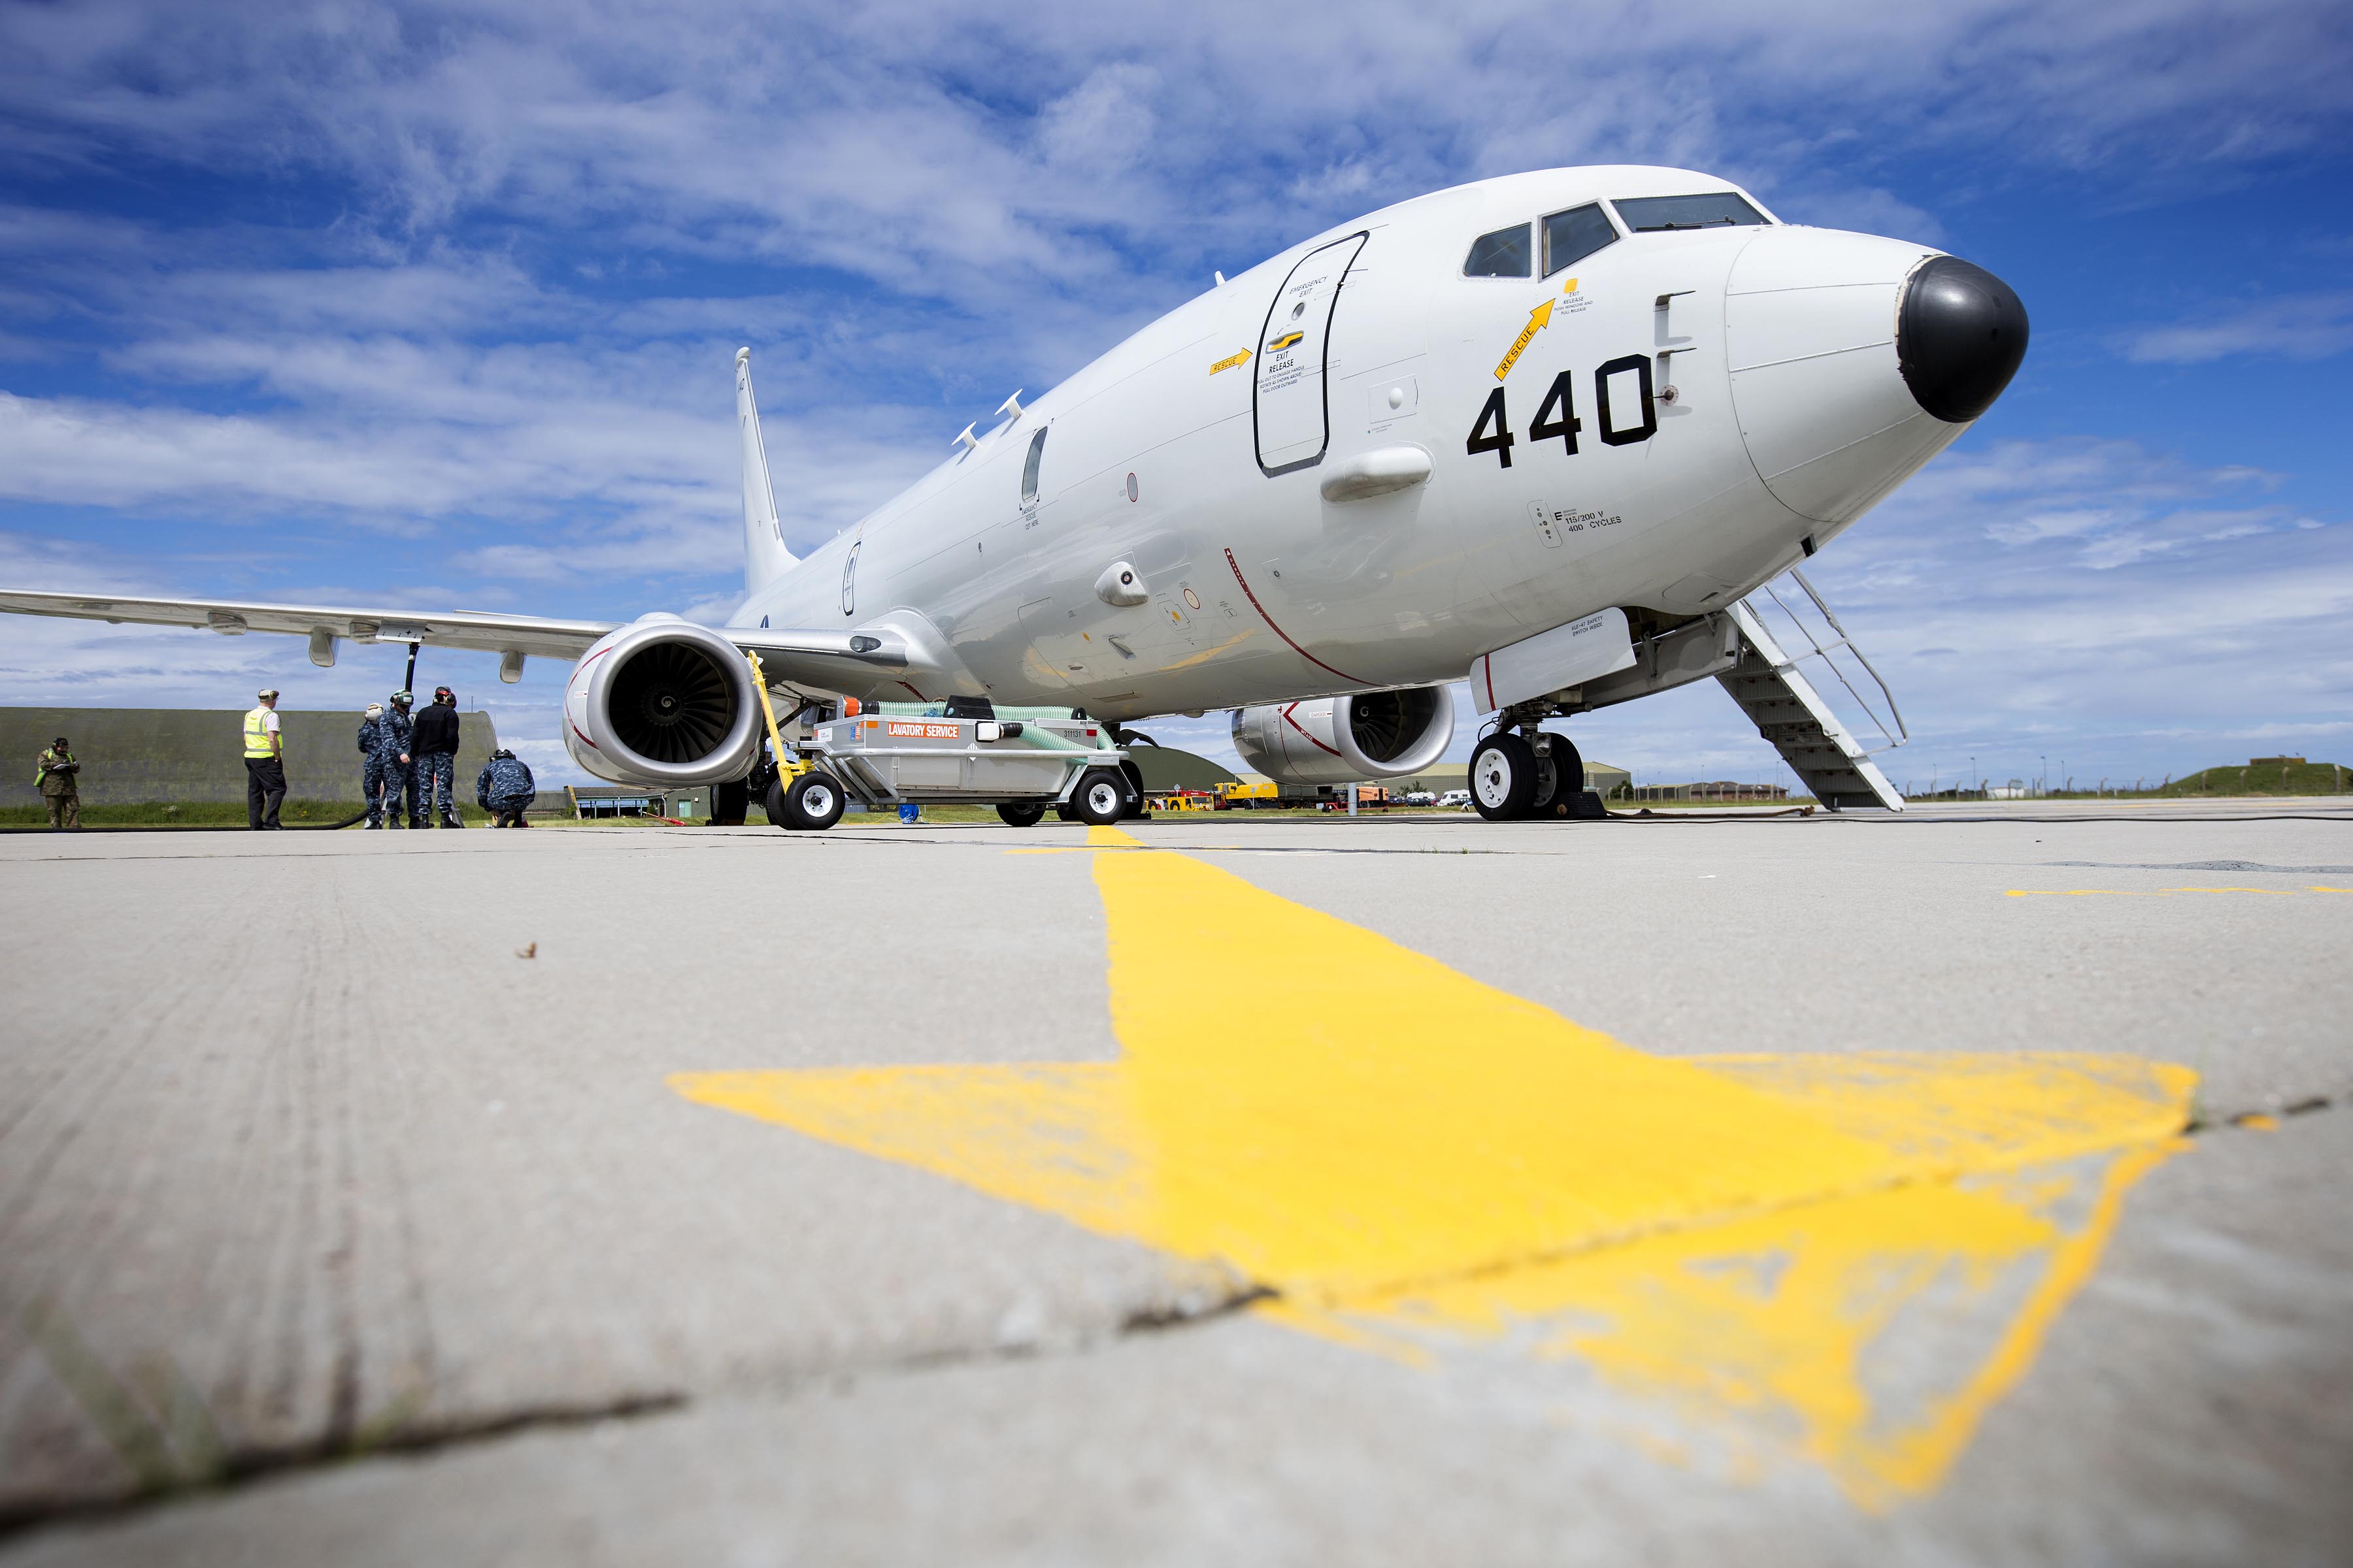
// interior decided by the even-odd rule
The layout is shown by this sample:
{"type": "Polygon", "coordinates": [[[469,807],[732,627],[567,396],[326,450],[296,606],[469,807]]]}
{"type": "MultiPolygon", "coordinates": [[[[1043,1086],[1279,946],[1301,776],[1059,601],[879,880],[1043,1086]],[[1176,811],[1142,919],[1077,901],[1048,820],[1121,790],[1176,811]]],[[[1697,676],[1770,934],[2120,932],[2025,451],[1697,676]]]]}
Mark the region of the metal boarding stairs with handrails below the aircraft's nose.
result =
{"type": "Polygon", "coordinates": [[[1715,675],[1741,712],[1755,722],[1758,733],[1772,741],[1788,769],[1831,811],[1849,806],[1904,809],[1904,795],[1880,773],[1873,755],[1904,745],[1911,733],[1897,698],[1871,668],[1864,651],[1847,637],[1831,607],[1824,604],[1802,571],[1791,569],[1786,583],[1765,583],[1732,607],[1732,623],[1741,632],[1734,665],[1715,675]],[[1852,668],[1852,675],[1849,675],[1852,668]],[[1817,689],[1809,675],[1821,677],[1817,689]],[[1838,717],[1824,691],[1835,682],[1845,696],[1861,708],[1878,745],[1866,745],[1857,731],[1838,717]],[[1878,689],[1887,717],[1866,696],[1878,689]]]}

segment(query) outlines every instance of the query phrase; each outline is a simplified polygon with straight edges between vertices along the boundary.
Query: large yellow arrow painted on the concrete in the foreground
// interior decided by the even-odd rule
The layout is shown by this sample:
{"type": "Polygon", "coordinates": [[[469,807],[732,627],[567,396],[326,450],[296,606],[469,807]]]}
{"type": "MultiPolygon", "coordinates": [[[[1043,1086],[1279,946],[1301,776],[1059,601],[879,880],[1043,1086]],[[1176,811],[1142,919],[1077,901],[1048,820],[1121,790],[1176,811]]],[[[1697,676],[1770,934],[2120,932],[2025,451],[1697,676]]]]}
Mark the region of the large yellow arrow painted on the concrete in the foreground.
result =
{"type": "Polygon", "coordinates": [[[1193,856],[1087,851],[1118,1060],[671,1086],[1221,1262],[1289,1328],[1584,1363],[1864,1507],[1937,1486],[2188,1119],[2195,1074],[2139,1058],[1647,1056],[1193,856]]]}

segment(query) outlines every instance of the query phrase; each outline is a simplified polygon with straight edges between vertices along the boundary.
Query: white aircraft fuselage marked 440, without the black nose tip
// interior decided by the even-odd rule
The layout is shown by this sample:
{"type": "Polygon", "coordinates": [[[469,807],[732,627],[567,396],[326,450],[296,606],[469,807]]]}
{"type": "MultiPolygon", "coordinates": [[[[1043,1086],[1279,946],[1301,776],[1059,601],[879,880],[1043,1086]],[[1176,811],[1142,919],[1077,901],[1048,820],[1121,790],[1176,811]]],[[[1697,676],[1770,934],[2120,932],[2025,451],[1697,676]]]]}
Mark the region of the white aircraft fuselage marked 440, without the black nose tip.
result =
{"type": "Polygon", "coordinates": [[[1605,607],[1706,614],[1967,428],[1897,364],[1927,256],[1682,169],[1424,195],[1155,320],[734,625],[899,625],[939,651],[922,698],[1134,719],[1464,679],[1605,607]],[[1718,193],[1755,221],[1631,207],[1718,193]],[[1400,449],[1426,480],[1325,496],[1400,449]],[[1113,567],[1141,602],[1099,592],[1113,567]]]}

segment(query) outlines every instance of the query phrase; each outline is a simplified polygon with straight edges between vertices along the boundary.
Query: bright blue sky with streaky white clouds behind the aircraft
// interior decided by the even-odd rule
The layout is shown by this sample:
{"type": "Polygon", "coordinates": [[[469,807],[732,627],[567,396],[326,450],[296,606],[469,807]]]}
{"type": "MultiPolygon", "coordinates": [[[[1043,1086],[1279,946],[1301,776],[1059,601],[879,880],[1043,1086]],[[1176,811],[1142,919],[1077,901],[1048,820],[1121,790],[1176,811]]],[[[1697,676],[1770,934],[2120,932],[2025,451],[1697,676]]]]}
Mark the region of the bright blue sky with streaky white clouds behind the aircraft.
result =
{"type": "MultiPolygon", "coordinates": [[[[1925,240],[2033,353],[1814,581],[1901,783],[2353,762],[2344,5],[0,9],[0,583],[725,614],[729,360],[826,538],[1351,214],[1574,162],[1925,240]]],[[[358,708],[393,649],[0,616],[0,703],[358,708]]],[[[551,776],[562,670],[426,654],[551,776]]],[[[1217,717],[1155,726],[1224,750],[1217,717]]],[[[1767,778],[1713,682],[1593,715],[1767,778]]],[[[1471,733],[1457,738],[1468,752],[1471,733]]]]}

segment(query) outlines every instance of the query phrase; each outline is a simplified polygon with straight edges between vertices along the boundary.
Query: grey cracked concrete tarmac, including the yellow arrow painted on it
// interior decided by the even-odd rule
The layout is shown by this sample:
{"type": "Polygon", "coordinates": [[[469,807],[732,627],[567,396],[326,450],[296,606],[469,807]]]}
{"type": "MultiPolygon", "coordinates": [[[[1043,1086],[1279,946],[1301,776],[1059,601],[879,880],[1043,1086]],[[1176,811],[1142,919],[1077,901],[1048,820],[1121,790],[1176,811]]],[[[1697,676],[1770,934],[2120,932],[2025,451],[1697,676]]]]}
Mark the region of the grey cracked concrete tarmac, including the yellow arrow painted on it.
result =
{"type": "Polygon", "coordinates": [[[2353,1528],[2332,802],[0,863],[0,1563],[2353,1528]]]}

